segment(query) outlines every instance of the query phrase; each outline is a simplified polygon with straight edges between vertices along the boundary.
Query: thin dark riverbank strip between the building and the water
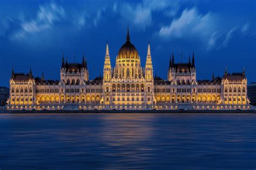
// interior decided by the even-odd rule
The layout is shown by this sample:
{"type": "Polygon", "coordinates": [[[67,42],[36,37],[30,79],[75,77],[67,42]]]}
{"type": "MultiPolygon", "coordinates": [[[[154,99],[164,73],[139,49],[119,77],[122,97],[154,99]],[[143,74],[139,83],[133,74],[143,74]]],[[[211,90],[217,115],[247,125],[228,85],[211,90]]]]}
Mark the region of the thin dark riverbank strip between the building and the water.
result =
{"type": "Polygon", "coordinates": [[[1,110],[1,114],[256,114],[256,110],[1,110]]]}

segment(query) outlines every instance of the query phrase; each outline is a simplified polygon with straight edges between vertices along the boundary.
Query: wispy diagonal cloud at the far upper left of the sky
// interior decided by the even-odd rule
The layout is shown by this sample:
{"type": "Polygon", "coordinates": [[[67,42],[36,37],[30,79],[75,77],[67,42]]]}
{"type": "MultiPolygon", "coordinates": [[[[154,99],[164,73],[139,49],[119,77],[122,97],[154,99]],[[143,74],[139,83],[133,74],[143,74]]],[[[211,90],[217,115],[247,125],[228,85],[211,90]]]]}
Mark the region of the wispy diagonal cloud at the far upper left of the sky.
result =
{"type": "Polygon", "coordinates": [[[65,11],[62,6],[56,3],[40,5],[36,18],[21,23],[21,29],[12,38],[23,39],[26,35],[51,29],[56,22],[65,18],[65,11]]]}

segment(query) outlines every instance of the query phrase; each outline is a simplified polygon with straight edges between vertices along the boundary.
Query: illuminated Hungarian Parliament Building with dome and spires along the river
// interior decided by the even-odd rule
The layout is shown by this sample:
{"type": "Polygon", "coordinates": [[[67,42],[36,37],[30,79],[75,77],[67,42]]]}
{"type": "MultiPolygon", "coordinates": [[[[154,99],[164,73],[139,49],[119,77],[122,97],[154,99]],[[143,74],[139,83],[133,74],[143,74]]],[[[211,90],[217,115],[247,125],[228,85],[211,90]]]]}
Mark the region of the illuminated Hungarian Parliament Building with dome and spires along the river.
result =
{"type": "Polygon", "coordinates": [[[64,60],[60,80],[45,80],[16,73],[10,79],[9,110],[201,110],[250,109],[245,70],[227,73],[212,80],[197,80],[194,53],[192,60],[178,63],[170,58],[167,80],[153,75],[150,43],[146,65],[140,64],[139,53],[130,41],[119,49],[116,65],[111,66],[106,44],[103,76],[89,79],[87,61],[64,60]]]}

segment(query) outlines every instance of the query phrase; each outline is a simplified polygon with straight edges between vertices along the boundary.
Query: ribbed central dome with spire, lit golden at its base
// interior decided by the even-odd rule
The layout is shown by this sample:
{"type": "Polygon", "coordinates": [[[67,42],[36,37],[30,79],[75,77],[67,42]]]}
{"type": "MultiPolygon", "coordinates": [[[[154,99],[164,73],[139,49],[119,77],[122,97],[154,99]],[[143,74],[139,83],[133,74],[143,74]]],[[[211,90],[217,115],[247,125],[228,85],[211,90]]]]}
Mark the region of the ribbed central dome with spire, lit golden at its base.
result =
{"type": "Polygon", "coordinates": [[[127,29],[126,42],[119,49],[117,59],[139,59],[137,49],[130,42],[129,29],[127,29]]]}

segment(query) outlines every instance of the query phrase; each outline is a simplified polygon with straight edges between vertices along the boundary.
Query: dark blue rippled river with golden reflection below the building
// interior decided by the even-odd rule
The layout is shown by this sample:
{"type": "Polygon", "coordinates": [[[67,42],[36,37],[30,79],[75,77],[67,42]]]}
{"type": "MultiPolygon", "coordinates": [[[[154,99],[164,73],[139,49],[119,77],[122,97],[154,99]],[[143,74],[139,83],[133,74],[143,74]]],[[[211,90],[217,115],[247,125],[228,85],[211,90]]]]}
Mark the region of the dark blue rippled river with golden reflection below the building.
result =
{"type": "Polygon", "coordinates": [[[255,114],[0,114],[0,169],[255,169],[255,114]]]}

